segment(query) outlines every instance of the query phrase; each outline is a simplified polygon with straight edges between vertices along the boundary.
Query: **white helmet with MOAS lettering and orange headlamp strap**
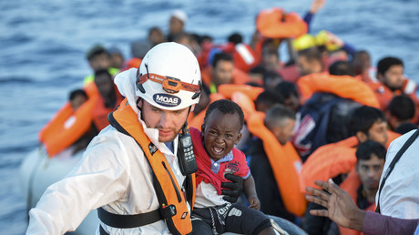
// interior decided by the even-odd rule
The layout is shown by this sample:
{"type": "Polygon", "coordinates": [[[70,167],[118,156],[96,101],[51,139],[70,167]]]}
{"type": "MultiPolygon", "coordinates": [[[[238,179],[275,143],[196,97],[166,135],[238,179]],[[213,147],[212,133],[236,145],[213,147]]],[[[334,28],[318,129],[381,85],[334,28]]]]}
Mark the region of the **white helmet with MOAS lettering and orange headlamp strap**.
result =
{"type": "Polygon", "coordinates": [[[198,103],[200,90],[198,60],[186,46],[158,44],[138,67],[136,95],[152,106],[166,110],[189,107],[198,103]]]}

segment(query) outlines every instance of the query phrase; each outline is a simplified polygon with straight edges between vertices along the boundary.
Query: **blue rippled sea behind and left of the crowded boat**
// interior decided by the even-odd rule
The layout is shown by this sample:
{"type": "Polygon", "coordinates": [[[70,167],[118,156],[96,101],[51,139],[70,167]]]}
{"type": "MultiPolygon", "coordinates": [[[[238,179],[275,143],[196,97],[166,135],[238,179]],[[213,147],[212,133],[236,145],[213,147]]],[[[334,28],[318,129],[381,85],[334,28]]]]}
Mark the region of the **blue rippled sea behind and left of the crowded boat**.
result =
{"type": "MultiPolygon", "coordinates": [[[[249,42],[255,15],[281,6],[304,15],[311,0],[3,0],[0,1],[0,234],[23,234],[26,203],[18,168],[37,146],[37,133],[68,92],[90,74],[85,53],[101,43],[129,57],[130,42],[148,28],[168,31],[169,15],[183,9],[189,32],[218,43],[233,32],[249,42]]],[[[328,0],[312,20],[358,49],[404,60],[405,74],[419,80],[419,1],[328,0]]]]}

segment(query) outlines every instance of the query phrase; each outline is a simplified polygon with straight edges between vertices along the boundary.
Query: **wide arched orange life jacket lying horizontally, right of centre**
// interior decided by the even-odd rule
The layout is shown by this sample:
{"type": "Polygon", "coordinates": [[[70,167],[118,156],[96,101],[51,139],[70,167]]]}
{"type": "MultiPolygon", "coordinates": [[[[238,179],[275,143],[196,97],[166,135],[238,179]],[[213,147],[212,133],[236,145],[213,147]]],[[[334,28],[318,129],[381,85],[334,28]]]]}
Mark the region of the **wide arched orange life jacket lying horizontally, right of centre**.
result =
{"type": "Polygon", "coordinates": [[[303,102],[312,97],[314,92],[328,92],[338,97],[350,98],[365,106],[380,107],[371,87],[350,76],[316,73],[300,77],[297,86],[300,89],[303,102]]]}

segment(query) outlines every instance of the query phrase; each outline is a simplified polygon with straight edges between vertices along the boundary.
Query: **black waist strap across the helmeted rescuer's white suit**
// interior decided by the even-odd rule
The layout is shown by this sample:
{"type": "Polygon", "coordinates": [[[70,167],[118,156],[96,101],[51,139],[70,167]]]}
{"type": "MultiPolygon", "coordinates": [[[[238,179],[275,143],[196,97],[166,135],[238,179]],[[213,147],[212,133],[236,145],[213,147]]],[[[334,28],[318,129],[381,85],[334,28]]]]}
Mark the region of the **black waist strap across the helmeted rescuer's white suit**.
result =
{"type": "Polygon", "coordinates": [[[107,226],[120,229],[137,228],[157,222],[158,220],[163,220],[159,209],[137,215],[118,215],[110,213],[105,209],[98,208],[97,217],[107,226]]]}

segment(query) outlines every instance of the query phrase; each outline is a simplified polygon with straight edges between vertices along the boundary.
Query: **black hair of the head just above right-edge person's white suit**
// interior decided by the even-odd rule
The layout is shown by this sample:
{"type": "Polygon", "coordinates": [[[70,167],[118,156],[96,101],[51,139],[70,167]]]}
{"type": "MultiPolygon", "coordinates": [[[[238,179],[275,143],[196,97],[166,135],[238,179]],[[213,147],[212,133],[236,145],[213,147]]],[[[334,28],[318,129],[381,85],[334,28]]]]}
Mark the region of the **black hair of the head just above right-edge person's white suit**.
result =
{"type": "Polygon", "coordinates": [[[415,107],[414,100],[406,95],[393,97],[388,105],[388,111],[400,121],[406,121],[414,118],[415,107]]]}

